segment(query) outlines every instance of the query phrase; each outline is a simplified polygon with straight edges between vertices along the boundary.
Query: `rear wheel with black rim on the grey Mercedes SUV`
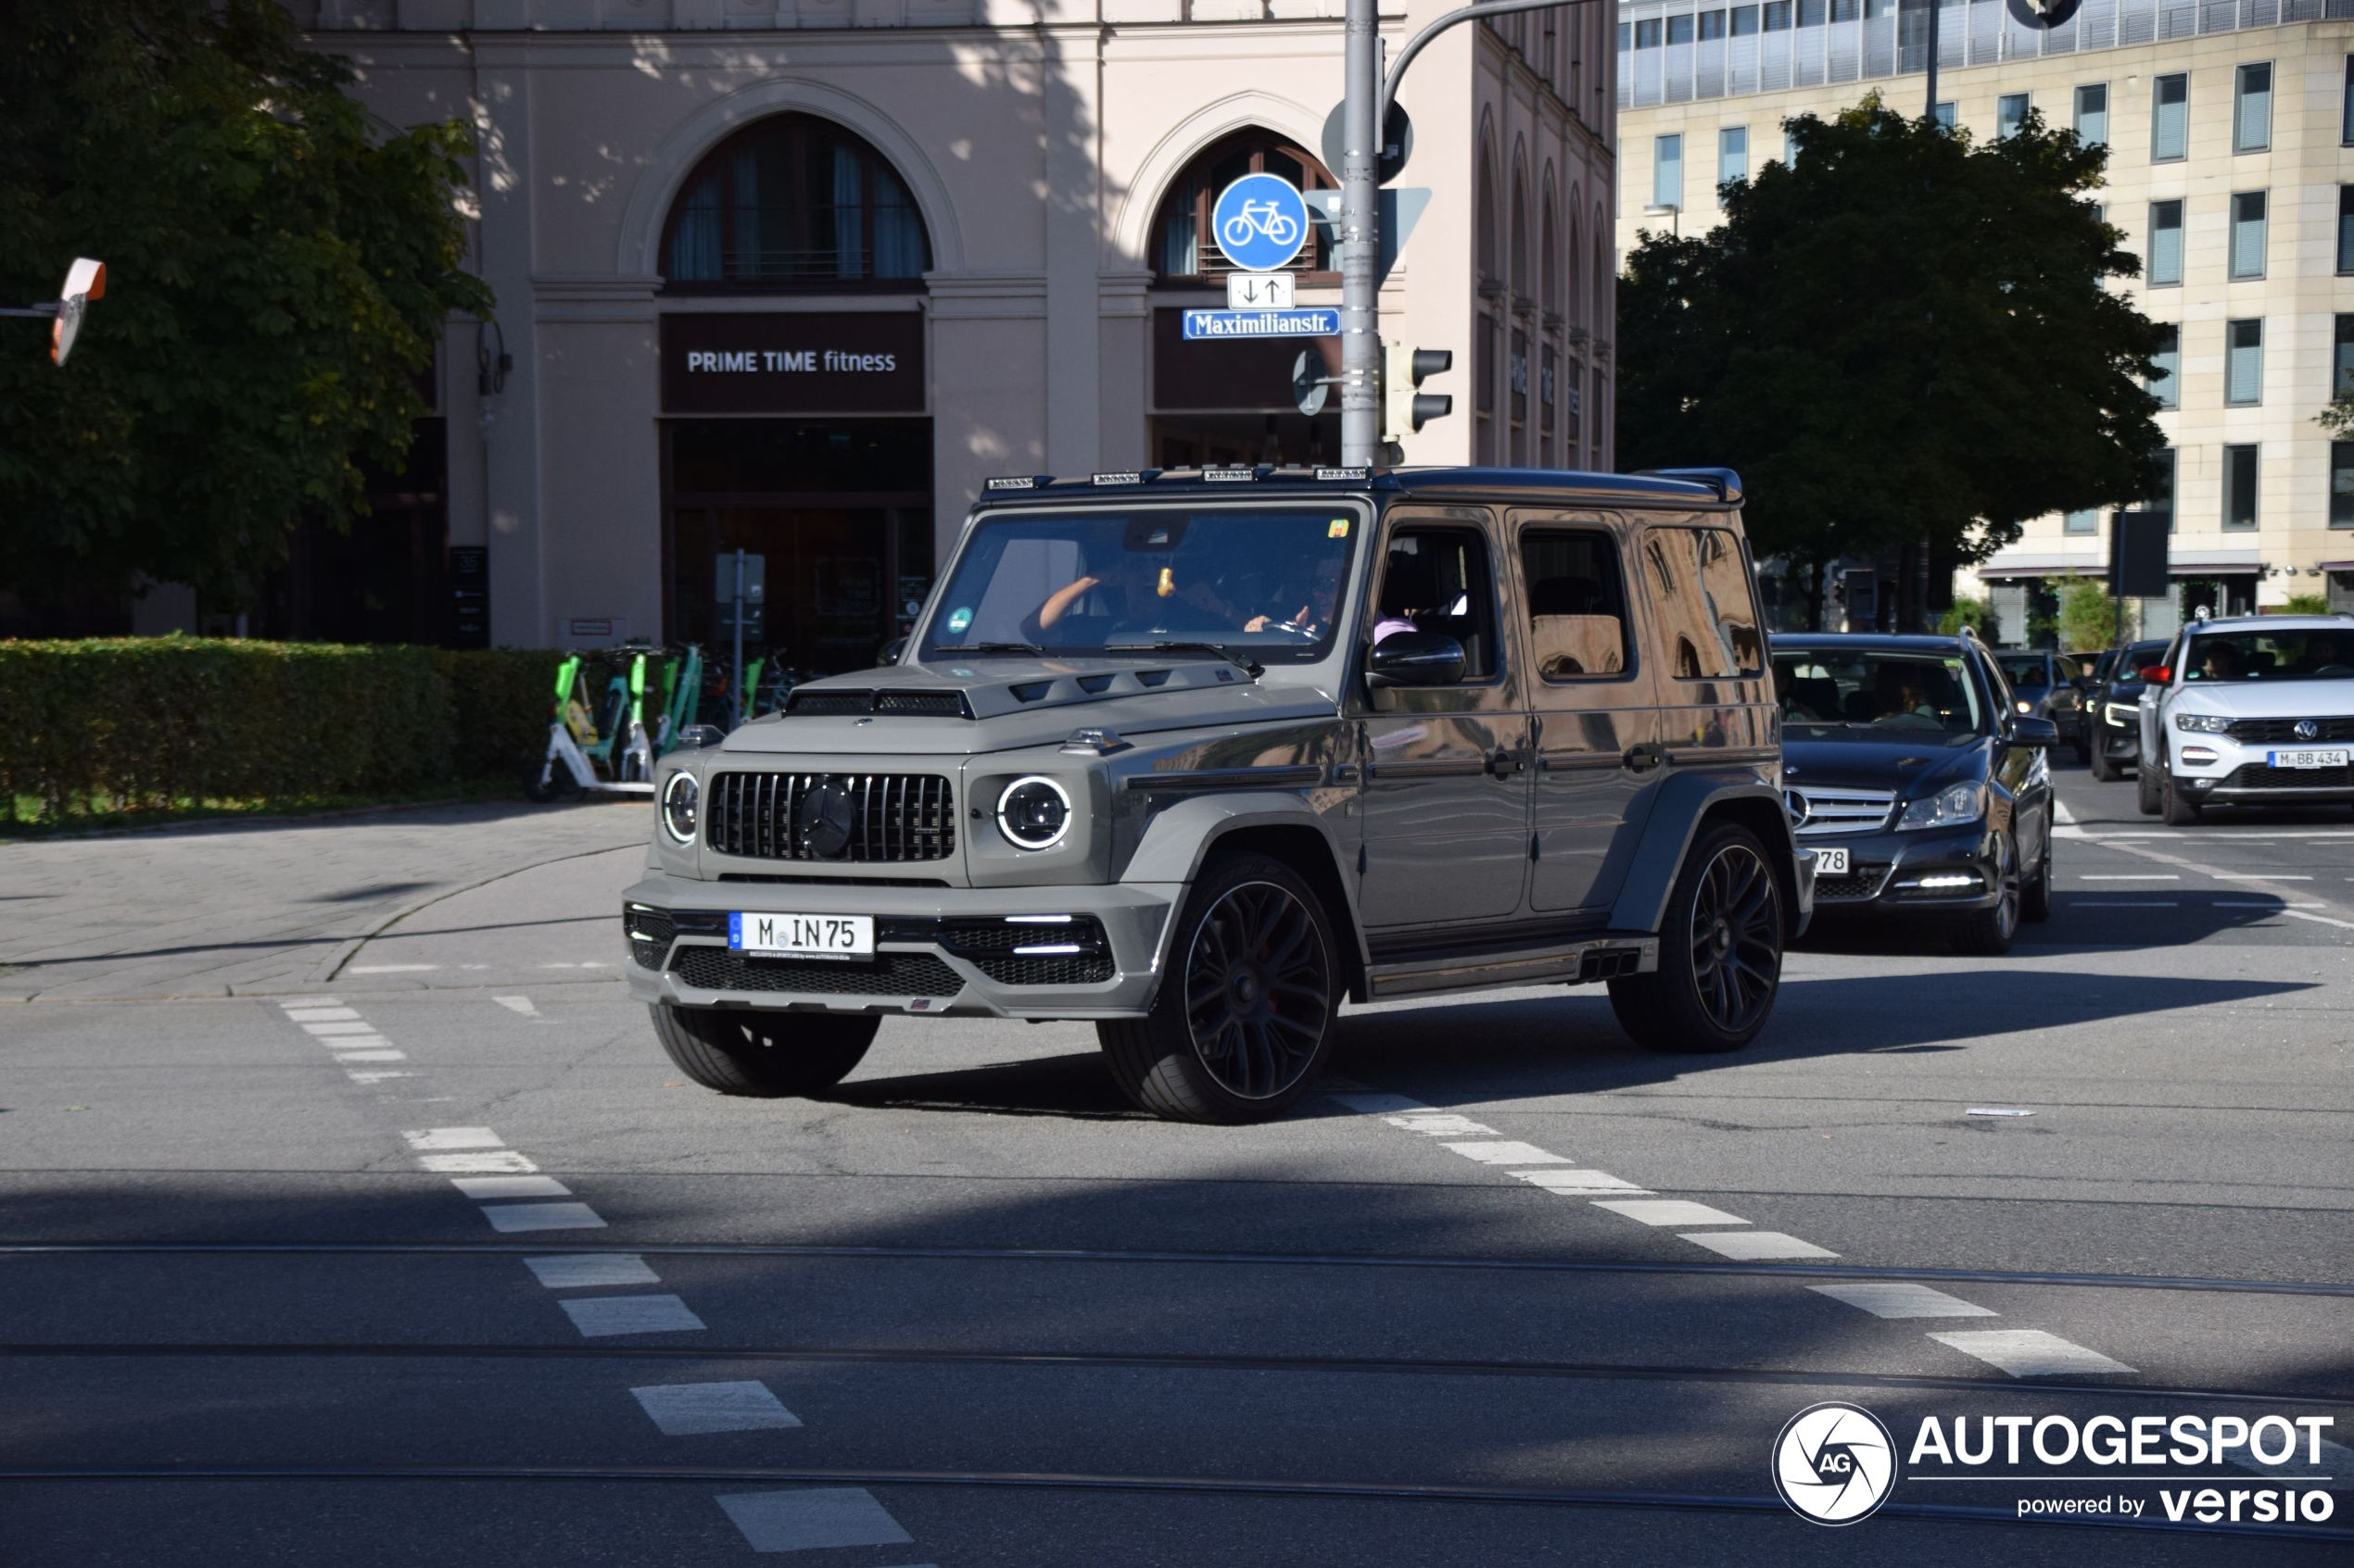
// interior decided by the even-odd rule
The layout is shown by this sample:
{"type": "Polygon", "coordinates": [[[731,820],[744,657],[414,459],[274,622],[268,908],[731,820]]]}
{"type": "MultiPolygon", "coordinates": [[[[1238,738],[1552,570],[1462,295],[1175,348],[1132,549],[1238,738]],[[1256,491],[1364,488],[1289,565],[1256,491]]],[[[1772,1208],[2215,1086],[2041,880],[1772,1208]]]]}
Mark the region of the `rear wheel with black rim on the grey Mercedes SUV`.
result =
{"type": "Polygon", "coordinates": [[[1747,827],[1704,830],[1660,919],[1660,969],[1610,983],[1610,1011],[1645,1051],[1740,1051],[1782,987],[1782,884],[1747,827]]]}

